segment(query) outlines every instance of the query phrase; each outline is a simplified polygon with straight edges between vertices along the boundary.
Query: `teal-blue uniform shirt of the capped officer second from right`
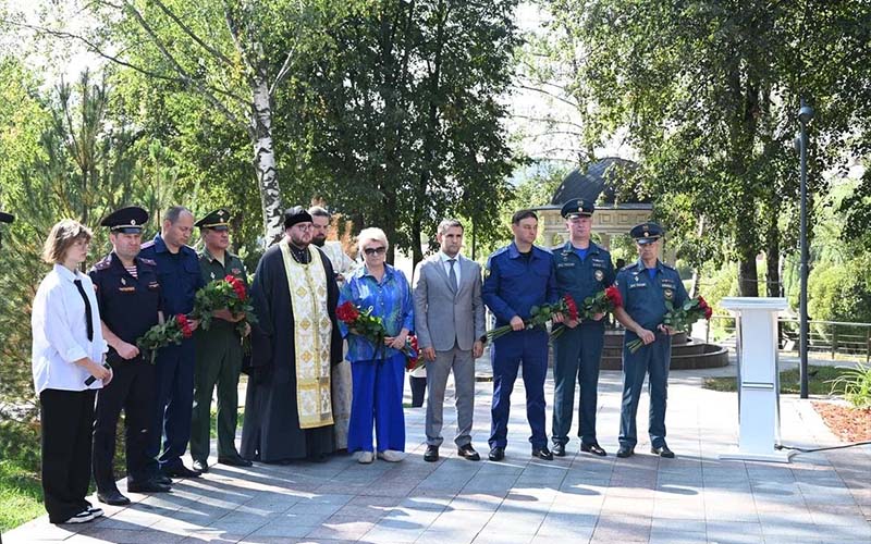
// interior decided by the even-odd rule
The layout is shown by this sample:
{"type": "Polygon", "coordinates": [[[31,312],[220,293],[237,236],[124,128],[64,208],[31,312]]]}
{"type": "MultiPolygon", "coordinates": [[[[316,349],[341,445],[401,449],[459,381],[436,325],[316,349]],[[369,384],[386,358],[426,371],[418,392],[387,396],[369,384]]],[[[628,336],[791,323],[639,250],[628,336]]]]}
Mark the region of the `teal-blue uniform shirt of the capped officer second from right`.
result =
{"type": "MultiPolygon", "coordinates": [[[[584,299],[610,287],[614,283],[614,264],[606,249],[590,242],[587,257],[580,259],[577,248],[566,242],[564,246],[553,250],[553,263],[556,268],[556,288],[560,295],[566,293],[580,307],[584,299]]],[[[599,321],[604,324],[604,320],[599,321]]]]}

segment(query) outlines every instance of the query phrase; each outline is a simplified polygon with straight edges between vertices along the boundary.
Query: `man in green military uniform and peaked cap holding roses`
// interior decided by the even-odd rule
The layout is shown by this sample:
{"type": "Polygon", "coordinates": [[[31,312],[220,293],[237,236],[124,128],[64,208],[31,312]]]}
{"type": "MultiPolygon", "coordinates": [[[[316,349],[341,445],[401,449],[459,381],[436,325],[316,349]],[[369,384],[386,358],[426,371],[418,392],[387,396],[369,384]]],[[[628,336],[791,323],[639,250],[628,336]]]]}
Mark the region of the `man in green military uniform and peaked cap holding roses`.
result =
{"type": "MultiPolygon", "coordinates": [[[[203,281],[211,283],[225,276],[237,277],[247,289],[245,265],[226,250],[230,246],[230,212],[214,210],[197,221],[205,247],[199,254],[203,281]]],[[[191,457],[194,470],[208,472],[209,430],[211,428],[211,396],[218,386],[218,462],[250,467],[236,449],[236,418],[238,415],[238,374],[242,369],[242,337],[236,323],[244,316],[233,316],[223,309],[214,313],[208,331],[200,327],[194,369],[194,413],[191,422],[191,457]]]]}

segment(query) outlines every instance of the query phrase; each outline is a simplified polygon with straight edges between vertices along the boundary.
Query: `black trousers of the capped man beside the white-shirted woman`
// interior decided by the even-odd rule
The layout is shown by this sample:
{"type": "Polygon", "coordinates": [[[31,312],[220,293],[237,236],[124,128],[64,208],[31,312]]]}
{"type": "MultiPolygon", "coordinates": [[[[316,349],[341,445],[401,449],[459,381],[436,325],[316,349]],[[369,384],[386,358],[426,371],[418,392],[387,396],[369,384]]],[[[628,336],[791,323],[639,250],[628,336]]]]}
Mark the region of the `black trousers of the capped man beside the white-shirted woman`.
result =
{"type": "Polygon", "coordinates": [[[144,482],[157,472],[157,459],[148,457],[148,441],[154,434],[155,367],[142,360],[112,366],[112,382],[97,394],[94,420],[94,480],[97,490],[116,490],[112,471],[115,430],[124,410],[127,482],[144,482]]]}

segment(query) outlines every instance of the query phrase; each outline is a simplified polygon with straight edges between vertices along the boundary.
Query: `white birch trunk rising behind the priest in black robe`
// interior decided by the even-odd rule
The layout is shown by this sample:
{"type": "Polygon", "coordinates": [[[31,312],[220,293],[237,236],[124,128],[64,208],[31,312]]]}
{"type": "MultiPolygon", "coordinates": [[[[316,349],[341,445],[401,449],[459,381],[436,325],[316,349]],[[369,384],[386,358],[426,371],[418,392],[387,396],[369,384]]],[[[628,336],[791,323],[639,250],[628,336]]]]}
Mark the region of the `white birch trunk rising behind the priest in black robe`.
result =
{"type": "Polygon", "coordinates": [[[282,226],[281,190],[275,170],[275,152],[272,149],[272,100],[269,85],[263,77],[252,82],[252,134],[254,144],[254,170],[260,188],[260,206],[263,211],[263,232],[267,246],[281,239],[282,226]]]}

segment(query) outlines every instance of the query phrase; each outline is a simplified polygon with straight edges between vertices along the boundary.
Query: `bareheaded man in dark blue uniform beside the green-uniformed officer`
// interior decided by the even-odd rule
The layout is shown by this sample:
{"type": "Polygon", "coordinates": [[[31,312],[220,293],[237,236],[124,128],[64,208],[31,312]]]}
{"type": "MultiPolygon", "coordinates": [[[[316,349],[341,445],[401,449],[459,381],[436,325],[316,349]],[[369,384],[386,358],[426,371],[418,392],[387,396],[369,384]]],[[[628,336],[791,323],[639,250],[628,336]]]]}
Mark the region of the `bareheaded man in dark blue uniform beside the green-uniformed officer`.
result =
{"type": "MultiPolygon", "coordinates": [[[[143,244],[142,256],[157,263],[161,305],[167,319],[179,313],[191,313],[196,292],[205,285],[199,271],[199,258],[186,245],[193,231],[193,213],[187,208],[174,206],[163,218],[161,233],[154,240],[143,244]]],[[[194,322],[194,327],[198,324],[194,322]]],[[[168,478],[193,478],[200,474],[199,471],[182,465],[182,456],[191,438],[194,358],[194,338],[182,341],[180,346],[161,348],[157,355],[155,428],[158,432],[149,445],[149,455],[160,455],[160,470],[168,478]]]]}

